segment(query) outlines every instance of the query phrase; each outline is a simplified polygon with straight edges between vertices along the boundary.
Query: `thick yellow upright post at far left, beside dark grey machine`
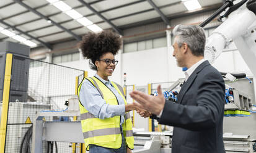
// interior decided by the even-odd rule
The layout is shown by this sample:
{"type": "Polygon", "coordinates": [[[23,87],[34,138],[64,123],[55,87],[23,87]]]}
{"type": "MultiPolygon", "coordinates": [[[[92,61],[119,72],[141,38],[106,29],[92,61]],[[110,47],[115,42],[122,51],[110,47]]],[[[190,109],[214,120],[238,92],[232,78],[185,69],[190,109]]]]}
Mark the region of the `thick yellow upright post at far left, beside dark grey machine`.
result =
{"type": "Polygon", "coordinates": [[[0,153],[4,153],[6,143],[7,115],[11,85],[12,54],[6,54],[6,70],[4,72],[4,89],[2,93],[2,114],[0,123],[0,153]]]}

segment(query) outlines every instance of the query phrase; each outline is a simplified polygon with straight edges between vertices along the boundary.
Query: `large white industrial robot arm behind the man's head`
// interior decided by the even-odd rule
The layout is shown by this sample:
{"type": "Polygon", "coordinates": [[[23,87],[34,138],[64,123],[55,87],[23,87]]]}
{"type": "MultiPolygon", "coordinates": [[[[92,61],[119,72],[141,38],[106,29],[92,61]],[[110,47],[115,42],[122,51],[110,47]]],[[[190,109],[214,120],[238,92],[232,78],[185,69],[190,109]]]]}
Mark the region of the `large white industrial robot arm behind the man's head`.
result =
{"type": "Polygon", "coordinates": [[[246,5],[232,12],[206,41],[205,59],[212,64],[234,41],[241,56],[256,76],[256,15],[246,5]]]}

